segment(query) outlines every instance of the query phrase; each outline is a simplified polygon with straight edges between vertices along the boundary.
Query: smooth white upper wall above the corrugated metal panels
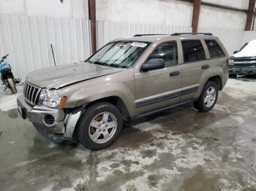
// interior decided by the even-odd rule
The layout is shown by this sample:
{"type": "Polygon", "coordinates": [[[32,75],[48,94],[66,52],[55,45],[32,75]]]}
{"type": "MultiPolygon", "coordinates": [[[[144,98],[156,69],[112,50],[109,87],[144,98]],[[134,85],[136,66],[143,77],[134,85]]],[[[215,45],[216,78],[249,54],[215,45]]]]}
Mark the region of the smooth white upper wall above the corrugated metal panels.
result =
{"type": "MultiPolygon", "coordinates": [[[[249,0],[203,0],[248,9],[249,0]]],[[[96,0],[97,20],[191,27],[193,4],[177,0],[96,0]]],[[[1,14],[89,19],[88,0],[0,0],[1,14]],[[56,11],[58,10],[58,11],[56,11]]],[[[246,12],[201,6],[198,28],[244,30],[246,12]]]]}

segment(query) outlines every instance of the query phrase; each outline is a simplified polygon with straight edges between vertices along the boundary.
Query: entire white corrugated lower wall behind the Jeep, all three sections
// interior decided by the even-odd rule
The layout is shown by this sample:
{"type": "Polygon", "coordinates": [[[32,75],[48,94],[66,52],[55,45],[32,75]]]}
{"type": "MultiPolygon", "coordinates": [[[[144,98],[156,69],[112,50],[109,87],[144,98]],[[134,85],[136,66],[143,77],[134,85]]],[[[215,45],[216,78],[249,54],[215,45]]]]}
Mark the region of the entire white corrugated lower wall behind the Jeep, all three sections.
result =
{"type": "MultiPolygon", "coordinates": [[[[172,34],[191,32],[189,27],[176,27],[144,23],[115,23],[97,21],[98,48],[113,39],[135,34],[172,34]]],[[[200,28],[211,32],[232,55],[245,42],[256,39],[256,31],[200,28]]],[[[50,44],[56,55],[56,64],[83,61],[91,55],[89,20],[67,18],[0,15],[0,56],[10,53],[15,77],[24,77],[29,71],[54,66],[50,44]]]]}

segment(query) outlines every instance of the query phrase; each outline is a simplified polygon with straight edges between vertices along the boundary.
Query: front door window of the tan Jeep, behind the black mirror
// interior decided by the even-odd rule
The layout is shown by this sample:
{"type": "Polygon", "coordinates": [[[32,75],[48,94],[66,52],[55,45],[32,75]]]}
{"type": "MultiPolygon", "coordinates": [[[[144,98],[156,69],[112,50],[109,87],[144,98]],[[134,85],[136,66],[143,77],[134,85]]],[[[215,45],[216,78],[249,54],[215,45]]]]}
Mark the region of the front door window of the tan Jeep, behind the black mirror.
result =
{"type": "Polygon", "coordinates": [[[151,54],[151,58],[161,58],[165,61],[165,68],[178,64],[178,48],[176,42],[160,44],[151,54]]]}

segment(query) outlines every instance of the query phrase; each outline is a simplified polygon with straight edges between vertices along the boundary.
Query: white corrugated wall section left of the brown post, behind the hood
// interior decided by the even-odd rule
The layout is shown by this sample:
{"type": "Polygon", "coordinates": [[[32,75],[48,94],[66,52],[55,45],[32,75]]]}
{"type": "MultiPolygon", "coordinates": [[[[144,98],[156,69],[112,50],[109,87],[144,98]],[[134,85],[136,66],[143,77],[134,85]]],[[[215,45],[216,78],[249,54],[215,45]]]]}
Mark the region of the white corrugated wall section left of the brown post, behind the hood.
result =
{"type": "Polygon", "coordinates": [[[15,77],[29,71],[83,61],[91,55],[89,20],[0,15],[0,56],[10,53],[7,61],[15,77]]]}

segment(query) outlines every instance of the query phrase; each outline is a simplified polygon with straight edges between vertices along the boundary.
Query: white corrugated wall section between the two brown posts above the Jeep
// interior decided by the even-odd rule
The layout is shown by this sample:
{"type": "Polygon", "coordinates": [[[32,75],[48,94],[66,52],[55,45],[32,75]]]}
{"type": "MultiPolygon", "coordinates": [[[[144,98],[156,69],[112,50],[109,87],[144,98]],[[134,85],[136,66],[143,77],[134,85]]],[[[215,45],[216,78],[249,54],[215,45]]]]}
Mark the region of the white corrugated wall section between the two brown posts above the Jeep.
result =
{"type": "Polygon", "coordinates": [[[130,37],[135,34],[172,34],[175,32],[191,31],[192,28],[189,27],[97,21],[97,45],[100,48],[113,39],[130,37]]]}

